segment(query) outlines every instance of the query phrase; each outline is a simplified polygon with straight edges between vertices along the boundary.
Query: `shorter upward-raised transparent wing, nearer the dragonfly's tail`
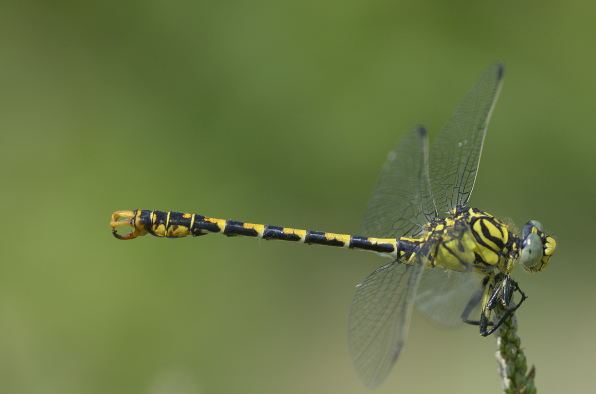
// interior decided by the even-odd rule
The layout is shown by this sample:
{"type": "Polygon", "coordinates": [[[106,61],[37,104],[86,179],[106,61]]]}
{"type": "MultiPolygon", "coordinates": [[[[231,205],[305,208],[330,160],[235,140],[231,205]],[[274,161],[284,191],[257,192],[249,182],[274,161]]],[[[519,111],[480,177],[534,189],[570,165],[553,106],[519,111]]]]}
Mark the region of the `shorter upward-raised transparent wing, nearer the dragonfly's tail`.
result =
{"type": "MultiPolygon", "coordinates": [[[[365,236],[397,238],[420,233],[430,217],[427,174],[429,139],[424,127],[408,132],[390,152],[362,219],[365,236]]],[[[432,204],[430,204],[432,207],[432,204]]]]}

